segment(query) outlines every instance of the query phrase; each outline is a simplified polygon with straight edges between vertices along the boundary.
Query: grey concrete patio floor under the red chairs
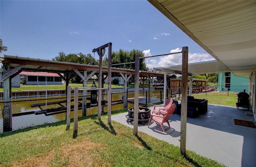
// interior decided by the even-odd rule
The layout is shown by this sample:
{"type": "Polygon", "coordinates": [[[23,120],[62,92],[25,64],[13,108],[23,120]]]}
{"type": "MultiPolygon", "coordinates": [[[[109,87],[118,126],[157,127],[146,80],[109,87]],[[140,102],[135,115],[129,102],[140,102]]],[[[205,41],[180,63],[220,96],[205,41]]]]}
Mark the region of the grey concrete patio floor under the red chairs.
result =
{"type": "MultiPolygon", "coordinates": [[[[112,120],[133,128],[124,114],[112,120]]],[[[186,149],[216,160],[229,167],[256,167],[256,128],[234,124],[234,119],[254,122],[252,111],[235,107],[208,104],[208,112],[197,118],[187,118],[186,149]]],[[[138,131],[180,146],[180,115],[170,117],[165,132],[154,122],[148,128],[139,122],[138,131]]]]}

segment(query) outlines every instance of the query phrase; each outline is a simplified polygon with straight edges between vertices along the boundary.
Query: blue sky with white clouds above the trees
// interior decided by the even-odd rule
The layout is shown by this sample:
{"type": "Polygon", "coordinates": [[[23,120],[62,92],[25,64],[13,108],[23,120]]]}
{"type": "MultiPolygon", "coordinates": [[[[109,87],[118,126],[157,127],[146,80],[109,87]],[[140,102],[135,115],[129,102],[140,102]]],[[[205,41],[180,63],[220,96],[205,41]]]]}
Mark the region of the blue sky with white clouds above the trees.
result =
{"type": "MultiPolygon", "coordinates": [[[[8,47],[1,57],[51,60],[61,51],[94,55],[92,49],[112,42],[112,51],[139,49],[145,56],[187,46],[189,63],[213,60],[146,0],[1,0],[0,36],[8,47]]],[[[149,68],[178,64],[181,55],[146,59],[149,68]]]]}

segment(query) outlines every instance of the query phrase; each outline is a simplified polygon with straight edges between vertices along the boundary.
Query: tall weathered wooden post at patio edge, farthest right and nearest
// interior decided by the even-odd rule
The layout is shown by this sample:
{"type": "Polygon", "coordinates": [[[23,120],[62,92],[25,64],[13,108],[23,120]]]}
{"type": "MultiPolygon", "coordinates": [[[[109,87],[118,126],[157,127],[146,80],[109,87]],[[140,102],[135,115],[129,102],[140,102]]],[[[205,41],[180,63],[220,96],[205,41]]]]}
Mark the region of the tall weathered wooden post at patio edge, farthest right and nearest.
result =
{"type": "Polygon", "coordinates": [[[180,152],[186,155],[186,128],[188,106],[188,47],[182,47],[182,105],[180,118],[180,152]]]}

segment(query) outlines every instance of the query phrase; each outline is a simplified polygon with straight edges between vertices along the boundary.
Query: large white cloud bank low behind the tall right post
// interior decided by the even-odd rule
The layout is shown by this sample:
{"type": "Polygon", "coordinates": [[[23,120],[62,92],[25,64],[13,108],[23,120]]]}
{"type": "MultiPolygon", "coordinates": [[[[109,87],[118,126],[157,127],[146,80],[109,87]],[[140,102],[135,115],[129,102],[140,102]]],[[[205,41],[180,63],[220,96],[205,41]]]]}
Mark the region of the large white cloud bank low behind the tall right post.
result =
{"type": "MultiPolygon", "coordinates": [[[[170,53],[180,52],[182,49],[176,48],[172,49],[170,53]]],[[[150,49],[143,51],[144,56],[146,57],[151,55],[150,49]]],[[[188,63],[196,63],[202,61],[210,61],[214,60],[214,58],[209,55],[208,53],[188,53],[188,63]]],[[[181,65],[182,64],[182,56],[181,53],[166,55],[166,56],[159,56],[159,57],[152,57],[148,58],[145,61],[146,67],[154,68],[154,67],[168,67],[174,65],[181,65]]]]}

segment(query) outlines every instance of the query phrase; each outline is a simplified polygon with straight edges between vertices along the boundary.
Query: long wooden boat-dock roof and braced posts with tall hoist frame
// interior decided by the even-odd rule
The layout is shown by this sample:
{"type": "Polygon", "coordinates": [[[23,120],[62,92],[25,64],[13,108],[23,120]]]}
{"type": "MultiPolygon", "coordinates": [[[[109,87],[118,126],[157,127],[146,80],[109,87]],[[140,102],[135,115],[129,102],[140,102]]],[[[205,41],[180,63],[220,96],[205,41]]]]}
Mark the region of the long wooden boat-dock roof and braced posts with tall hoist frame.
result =
{"type": "MultiPolygon", "coordinates": [[[[102,49],[105,47],[108,47],[108,55],[112,55],[111,53],[111,45],[112,43],[107,43],[106,45],[102,45],[101,47],[98,47],[97,49],[93,49],[94,51],[97,51],[98,53],[102,54],[102,49]]],[[[92,75],[99,76],[99,88],[102,88],[104,79],[103,75],[105,76],[111,76],[111,73],[115,73],[116,76],[120,76],[124,79],[124,90],[127,88],[127,81],[130,79],[130,77],[134,76],[135,70],[131,69],[121,69],[121,68],[115,68],[115,67],[102,67],[102,63],[100,63],[100,66],[97,65],[85,65],[85,64],[78,64],[78,63],[67,63],[67,62],[60,62],[60,61],[51,61],[51,60],[43,60],[43,59],[33,59],[29,57],[18,57],[18,56],[9,56],[4,55],[4,57],[1,57],[2,64],[3,64],[3,75],[2,75],[2,81],[4,82],[4,108],[3,108],[3,122],[4,122],[4,129],[3,132],[9,132],[12,131],[12,85],[11,85],[11,79],[21,73],[22,71],[31,71],[31,72],[51,72],[51,73],[58,73],[62,79],[66,81],[66,92],[68,89],[68,81],[74,75],[79,75],[81,79],[83,80],[83,87],[86,87],[86,82],[92,75]],[[100,72],[101,69],[101,72],[100,72]],[[101,75],[100,75],[101,73],[101,75]],[[64,77],[62,74],[66,74],[66,77],[64,77]],[[110,74],[110,75],[108,75],[110,74]]],[[[101,56],[102,58],[102,56],[101,56]]],[[[111,59],[109,59],[108,64],[111,64],[111,59]]],[[[164,74],[162,73],[154,73],[154,72],[148,72],[148,71],[140,71],[139,74],[141,77],[149,77],[149,80],[153,77],[164,77],[164,74]]],[[[108,78],[108,91],[111,93],[111,77],[108,78]]],[[[83,96],[86,95],[87,90],[83,90],[83,96]]],[[[99,91],[99,99],[101,98],[99,91]]],[[[124,94],[126,96],[126,94],[124,94]]],[[[108,96],[110,98],[111,96],[108,96]]],[[[108,99],[108,101],[111,101],[111,98],[108,99]]],[[[126,97],[124,97],[124,108],[127,108],[126,106],[126,97]]],[[[99,105],[101,105],[101,100],[99,101],[99,105]]],[[[82,114],[85,116],[86,113],[86,100],[83,99],[83,105],[82,105],[82,114]]],[[[100,107],[99,107],[100,108],[100,107]]],[[[110,110],[110,113],[108,113],[109,119],[108,122],[110,122],[111,118],[111,105],[108,105],[108,110],[110,110]]],[[[98,119],[100,119],[100,113],[98,112],[98,119]]]]}

